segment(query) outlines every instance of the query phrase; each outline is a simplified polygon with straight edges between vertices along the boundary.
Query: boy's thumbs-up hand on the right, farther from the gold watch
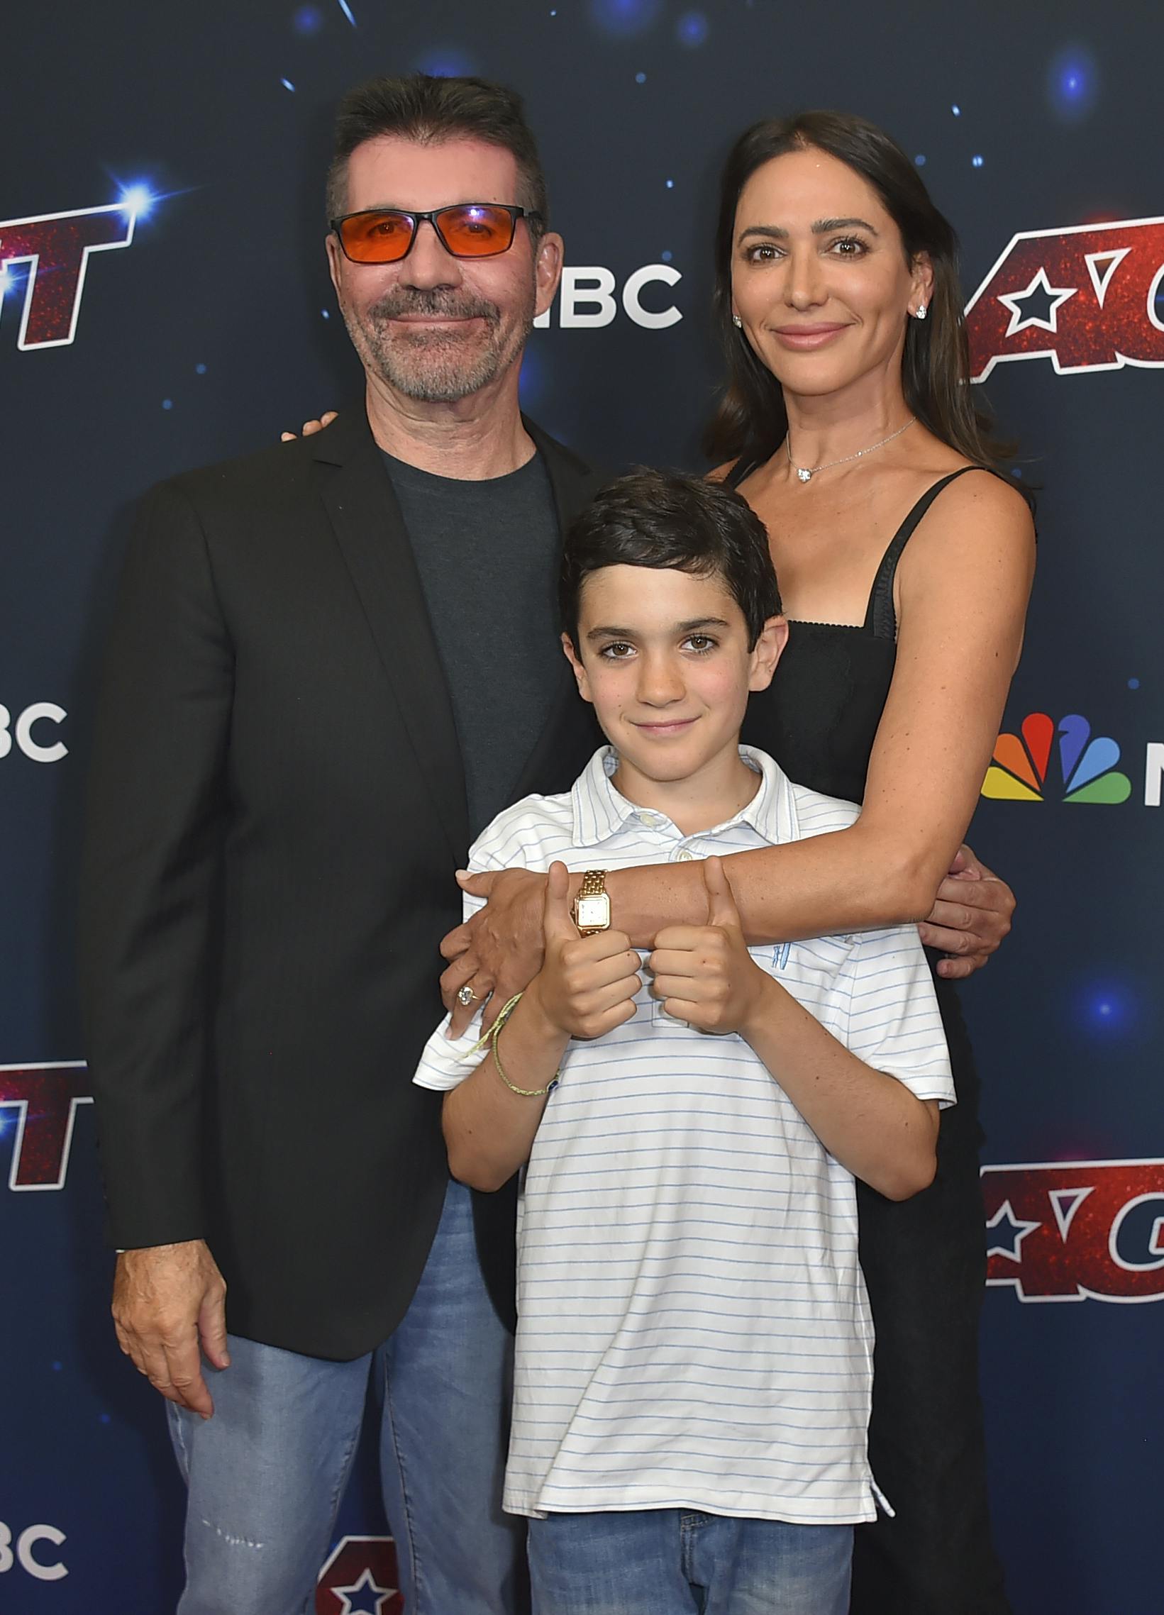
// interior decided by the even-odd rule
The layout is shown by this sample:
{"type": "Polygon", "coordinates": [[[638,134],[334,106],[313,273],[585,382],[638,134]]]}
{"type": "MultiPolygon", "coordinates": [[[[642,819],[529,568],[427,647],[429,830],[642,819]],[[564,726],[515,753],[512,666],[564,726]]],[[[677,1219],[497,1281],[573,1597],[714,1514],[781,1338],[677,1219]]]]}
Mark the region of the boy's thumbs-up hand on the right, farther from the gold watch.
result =
{"type": "Polygon", "coordinates": [[[667,925],[647,969],[667,1014],[701,1032],[739,1032],[760,1005],[768,977],[747,951],[723,861],[704,862],[706,925],[667,925]]]}

